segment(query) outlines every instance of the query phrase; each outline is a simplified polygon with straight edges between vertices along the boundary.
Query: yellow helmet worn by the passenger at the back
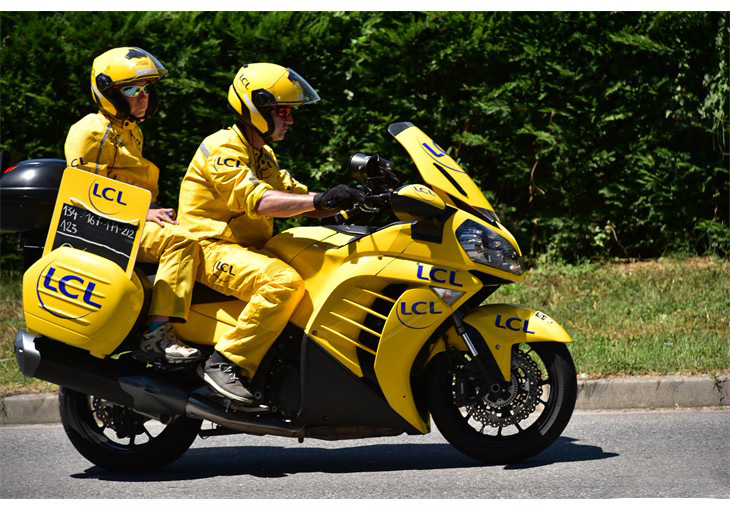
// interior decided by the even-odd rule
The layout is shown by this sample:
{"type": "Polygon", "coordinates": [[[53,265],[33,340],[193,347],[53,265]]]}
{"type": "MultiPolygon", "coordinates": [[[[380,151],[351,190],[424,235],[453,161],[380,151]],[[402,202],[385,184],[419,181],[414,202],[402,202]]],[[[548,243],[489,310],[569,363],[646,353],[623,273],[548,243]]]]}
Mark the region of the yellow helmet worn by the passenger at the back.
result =
{"type": "MultiPolygon", "coordinates": [[[[91,66],[91,96],[109,115],[118,118],[133,117],[129,113],[129,105],[119,96],[117,87],[140,80],[152,80],[156,83],[166,74],[165,66],[149,52],[129,46],[114,48],[94,59],[91,66]]],[[[150,87],[149,94],[145,117],[157,112],[157,91],[154,87],[150,87]]]]}

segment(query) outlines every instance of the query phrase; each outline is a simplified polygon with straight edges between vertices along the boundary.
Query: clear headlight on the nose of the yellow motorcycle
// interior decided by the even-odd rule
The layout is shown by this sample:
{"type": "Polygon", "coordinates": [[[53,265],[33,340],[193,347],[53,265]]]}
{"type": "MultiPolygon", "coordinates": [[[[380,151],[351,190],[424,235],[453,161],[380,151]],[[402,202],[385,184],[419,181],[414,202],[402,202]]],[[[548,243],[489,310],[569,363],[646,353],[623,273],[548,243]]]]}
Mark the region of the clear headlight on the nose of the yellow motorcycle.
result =
{"type": "Polygon", "coordinates": [[[473,262],[521,275],[522,257],[512,243],[479,223],[466,220],[456,229],[459,244],[473,262]]]}

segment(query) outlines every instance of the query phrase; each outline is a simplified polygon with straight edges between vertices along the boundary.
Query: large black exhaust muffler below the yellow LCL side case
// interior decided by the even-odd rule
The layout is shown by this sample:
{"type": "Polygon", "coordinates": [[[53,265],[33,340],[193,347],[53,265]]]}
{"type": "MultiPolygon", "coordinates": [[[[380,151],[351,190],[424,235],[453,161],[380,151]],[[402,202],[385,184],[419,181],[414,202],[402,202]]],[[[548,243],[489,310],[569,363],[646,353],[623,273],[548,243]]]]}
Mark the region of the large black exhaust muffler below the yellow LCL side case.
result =
{"type": "Polygon", "coordinates": [[[87,351],[20,330],[15,359],[23,375],[103,398],[155,417],[185,414],[188,388],[136,362],[103,360],[87,351]]]}

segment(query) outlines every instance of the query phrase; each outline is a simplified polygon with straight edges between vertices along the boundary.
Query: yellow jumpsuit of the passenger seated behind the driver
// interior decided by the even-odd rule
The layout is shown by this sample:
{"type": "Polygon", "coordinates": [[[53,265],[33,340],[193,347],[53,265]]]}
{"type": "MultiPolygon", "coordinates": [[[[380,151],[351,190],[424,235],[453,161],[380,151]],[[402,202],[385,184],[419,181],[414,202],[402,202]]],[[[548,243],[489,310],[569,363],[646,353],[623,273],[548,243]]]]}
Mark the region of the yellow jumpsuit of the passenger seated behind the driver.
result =
{"type": "MultiPolygon", "coordinates": [[[[89,114],[71,126],[64,147],[66,164],[149,190],[157,200],[159,169],[142,156],[144,139],[137,123],[103,112],[89,114]]],[[[159,262],[150,315],[184,322],[202,253],[190,232],[179,225],[164,228],[147,221],[137,260],[159,262]]]]}

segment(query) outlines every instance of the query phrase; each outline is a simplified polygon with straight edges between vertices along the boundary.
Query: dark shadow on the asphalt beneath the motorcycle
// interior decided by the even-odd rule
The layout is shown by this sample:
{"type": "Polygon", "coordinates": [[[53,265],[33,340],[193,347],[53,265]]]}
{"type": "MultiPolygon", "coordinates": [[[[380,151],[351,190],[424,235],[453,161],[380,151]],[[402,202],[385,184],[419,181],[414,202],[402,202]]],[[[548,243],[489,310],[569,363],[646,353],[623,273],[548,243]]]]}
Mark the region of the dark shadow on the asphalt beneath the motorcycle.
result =
{"type": "MultiPolygon", "coordinates": [[[[614,457],[597,446],[574,444],[561,437],[528,461],[504,469],[529,469],[561,462],[614,457]]],[[[240,446],[193,448],[162,471],[112,473],[91,467],[72,478],[120,482],[197,480],[226,475],[281,478],[296,473],[363,473],[427,469],[476,468],[485,464],[448,444],[365,445],[349,448],[240,446]]]]}

